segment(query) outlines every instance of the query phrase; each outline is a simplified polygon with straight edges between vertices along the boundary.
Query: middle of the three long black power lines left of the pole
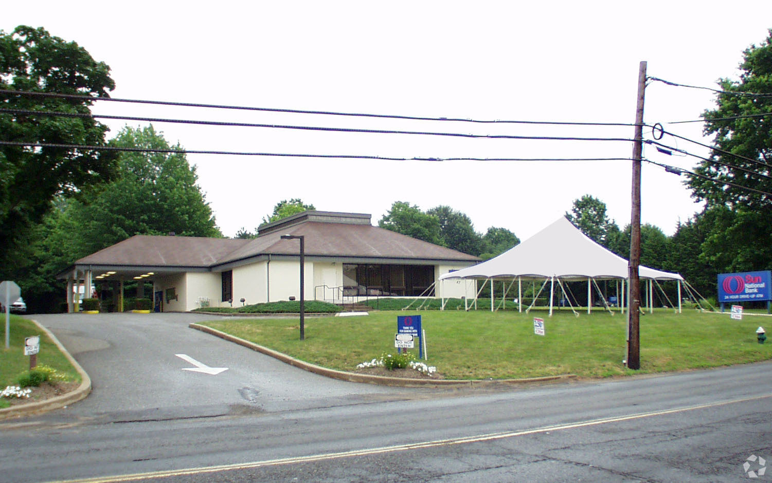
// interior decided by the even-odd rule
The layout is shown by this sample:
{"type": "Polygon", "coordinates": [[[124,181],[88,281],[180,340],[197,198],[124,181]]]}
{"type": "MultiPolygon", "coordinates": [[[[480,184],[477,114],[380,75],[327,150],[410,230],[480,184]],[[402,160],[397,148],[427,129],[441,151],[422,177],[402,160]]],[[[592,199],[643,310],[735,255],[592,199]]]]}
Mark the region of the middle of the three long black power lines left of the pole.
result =
{"type": "Polygon", "coordinates": [[[513,134],[469,134],[469,133],[442,133],[432,131],[405,131],[405,130],[382,130],[382,129],[360,129],[354,127],[320,127],[320,126],[289,126],[283,124],[262,124],[262,123],[232,123],[226,121],[206,121],[206,120],[185,120],[185,119],[165,119],[159,117],[133,117],[133,116],[108,116],[105,114],[90,113],[61,113],[55,111],[39,110],[20,110],[0,108],[0,113],[15,113],[22,115],[56,116],[56,117],[81,117],[93,119],[114,119],[114,120],[134,120],[150,123],[181,123],[181,124],[200,124],[205,126],[225,126],[225,127],[266,127],[272,129],[294,129],[294,130],[313,130],[313,131],[332,131],[339,133],[375,133],[375,134],[411,134],[422,136],[446,136],[446,137],[469,137],[469,138],[487,138],[487,139],[522,139],[522,140],[574,140],[574,141],[625,141],[631,142],[631,139],[624,137],[562,137],[562,136],[516,136],[513,134]]]}

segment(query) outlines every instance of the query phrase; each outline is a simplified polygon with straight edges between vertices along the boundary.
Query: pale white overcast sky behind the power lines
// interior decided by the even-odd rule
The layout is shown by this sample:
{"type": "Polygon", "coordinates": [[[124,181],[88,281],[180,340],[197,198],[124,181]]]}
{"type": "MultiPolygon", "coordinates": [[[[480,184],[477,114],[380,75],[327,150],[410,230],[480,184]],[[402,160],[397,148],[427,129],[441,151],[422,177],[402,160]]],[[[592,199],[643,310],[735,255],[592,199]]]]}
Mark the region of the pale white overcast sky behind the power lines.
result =
{"type": "MultiPolygon", "coordinates": [[[[106,62],[113,97],[476,120],[635,121],[638,64],[648,76],[715,86],[772,27],[772,2],[25,2],[0,29],[42,26],[106,62]]],[[[708,91],[651,83],[645,122],[694,140],[708,91]]],[[[94,113],[357,129],[516,136],[623,137],[632,127],[554,127],[378,120],[97,103],[94,113]]],[[[107,123],[112,137],[124,121],[107,123]]],[[[132,122],[132,126],[140,123],[132,122]]],[[[156,123],[191,150],[393,157],[631,157],[620,141],[506,140],[156,123]]],[[[651,139],[647,130],[645,138],[651,139]]],[[[665,137],[663,143],[706,155],[665,137]]],[[[692,169],[694,157],[644,156],[692,169]]],[[[227,236],[276,202],[372,214],[394,201],[439,204],[477,231],[521,239],[591,194],[624,227],[630,161],[381,161],[189,154],[227,236]]],[[[644,164],[642,222],[672,235],[701,209],[682,177],[644,164]]]]}

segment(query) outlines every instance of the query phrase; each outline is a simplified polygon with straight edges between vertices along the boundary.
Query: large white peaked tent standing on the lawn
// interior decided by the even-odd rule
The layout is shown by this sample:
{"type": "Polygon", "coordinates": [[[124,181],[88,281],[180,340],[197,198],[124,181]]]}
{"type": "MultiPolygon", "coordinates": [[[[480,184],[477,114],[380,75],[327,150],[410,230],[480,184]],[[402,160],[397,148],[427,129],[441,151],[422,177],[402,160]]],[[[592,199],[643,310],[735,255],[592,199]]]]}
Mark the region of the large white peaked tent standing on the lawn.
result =
{"type": "MultiPolygon", "coordinates": [[[[652,282],[654,280],[675,280],[679,282],[679,306],[680,288],[684,279],[677,273],[662,272],[649,269],[645,266],[638,267],[638,275],[641,279],[648,279],[651,295],[652,282]]],[[[624,296],[624,281],[628,278],[628,261],[621,258],[608,249],[593,242],[578,228],[564,217],[560,217],[553,224],[547,226],[536,235],[516,245],[503,254],[491,258],[486,262],[472,265],[466,269],[456,270],[440,275],[439,279],[507,279],[520,281],[544,280],[554,284],[557,280],[562,288],[561,281],[577,282],[587,280],[621,280],[623,283],[622,295],[624,296]]],[[[597,285],[597,284],[596,284],[597,285]]],[[[492,285],[493,286],[493,285],[492,285]]],[[[587,299],[591,284],[587,284],[587,299]]],[[[552,310],[550,290],[550,312],[552,310]]],[[[491,306],[493,307],[491,297],[491,306]]],[[[521,297],[518,297],[521,299],[521,297]]],[[[651,296],[649,297],[651,299],[651,296]]],[[[590,304],[588,304],[590,305],[590,304]]],[[[588,311],[590,307],[587,307],[588,311]]]]}

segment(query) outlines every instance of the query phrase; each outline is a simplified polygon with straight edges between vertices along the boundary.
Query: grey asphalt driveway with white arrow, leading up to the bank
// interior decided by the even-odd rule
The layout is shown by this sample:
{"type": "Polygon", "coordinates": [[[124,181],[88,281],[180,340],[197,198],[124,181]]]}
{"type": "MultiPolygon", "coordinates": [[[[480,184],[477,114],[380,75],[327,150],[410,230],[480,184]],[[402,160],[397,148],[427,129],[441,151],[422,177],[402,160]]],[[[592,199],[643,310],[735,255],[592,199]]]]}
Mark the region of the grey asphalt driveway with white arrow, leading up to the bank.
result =
{"type": "Polygon", "coordinates": [[[90,396],[66,409],[73,416],[135,421],[245,414],[411,393],[330,380],[188,328],[212,318],[189,313],[35,316],[92,379],[90,396]],[[191,371],[195,365],[181,355],[227,370],[191,371]]]}

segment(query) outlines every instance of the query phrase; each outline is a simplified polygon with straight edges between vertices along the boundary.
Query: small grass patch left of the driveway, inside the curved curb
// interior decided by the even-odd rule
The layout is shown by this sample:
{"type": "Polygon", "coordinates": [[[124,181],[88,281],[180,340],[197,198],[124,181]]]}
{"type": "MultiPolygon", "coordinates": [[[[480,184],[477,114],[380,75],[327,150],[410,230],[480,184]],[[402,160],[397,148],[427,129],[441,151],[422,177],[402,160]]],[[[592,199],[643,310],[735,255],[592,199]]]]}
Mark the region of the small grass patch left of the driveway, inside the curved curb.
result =
{"type": "MultiPolygon", "coordinates": [[[[10,348],[5,349],[5,314],[2,314],[2,341],[0,341],[0,390],[6,386],[16,384],[16,378],[26,370],[29,370],[29,356],[24,355],[24,338],[40,336],[40,352],[38,353],[38,365],[50,366],[60,373],[65,373],[69,380],[80,382],[80,374],[75,370],[69,360],[64,356],[59,347],[51,339],[42,333],[38,326],[19,316],[11,316],[10,348]]],[[[7,407],[7,403],[0,398],[0,407],[7,407]]]]}

